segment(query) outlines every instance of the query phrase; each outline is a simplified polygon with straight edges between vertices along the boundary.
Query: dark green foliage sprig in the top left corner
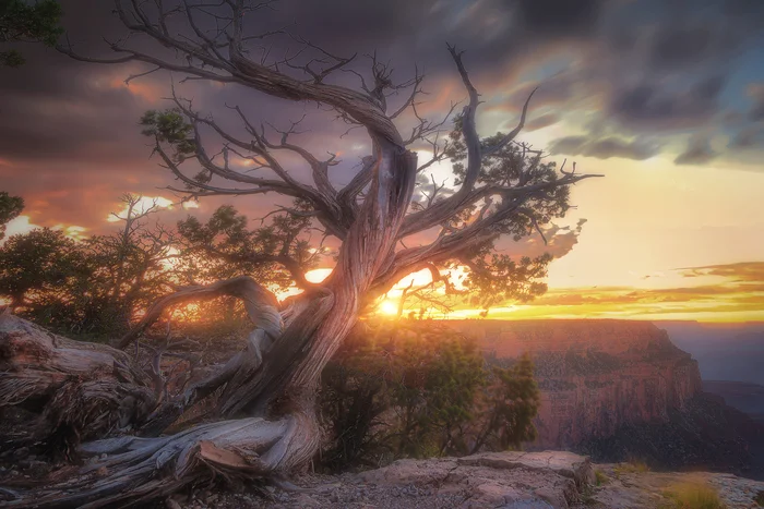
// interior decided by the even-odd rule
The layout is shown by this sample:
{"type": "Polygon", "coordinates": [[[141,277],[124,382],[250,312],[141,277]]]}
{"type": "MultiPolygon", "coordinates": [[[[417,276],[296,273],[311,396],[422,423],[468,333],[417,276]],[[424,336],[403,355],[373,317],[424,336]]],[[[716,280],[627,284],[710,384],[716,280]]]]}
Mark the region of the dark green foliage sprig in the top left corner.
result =
{"type": "MultiPolygon", "coordinates": [[[[0,0],[0,41],[39,41],[55,46],[63,28],[59,25],[61,5],[56,0],[28,3],[23,0],[0,0]]],[[[24,64],[15,49],[0,51],[0,65],[24,64]]]]}

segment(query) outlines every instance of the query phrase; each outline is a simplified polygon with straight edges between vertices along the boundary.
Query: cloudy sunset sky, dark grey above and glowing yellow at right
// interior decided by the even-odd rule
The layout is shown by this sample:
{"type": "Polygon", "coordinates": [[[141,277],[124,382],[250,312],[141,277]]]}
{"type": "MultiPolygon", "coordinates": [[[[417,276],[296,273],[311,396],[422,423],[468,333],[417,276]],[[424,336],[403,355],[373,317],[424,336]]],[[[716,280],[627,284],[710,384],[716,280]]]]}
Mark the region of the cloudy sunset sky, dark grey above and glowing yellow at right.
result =
{"type": "MultiPolygon", "coordinates": [[[[111,2],[61,3],[74,48],[108,56],[103,38],[123,33],[111,2]]],[[[532,240],[532,251],[556,255],[549,292],[490,317],[764,320],[761,0],[283,0],[248,22],[360,60],[375,50],[401,81],[417,65],[427,76],[421,111],[433,117],[466,96],[445,46],[456,45],[484,100],[482,135],[512,129],[539,87],[521,140],[605,178],[574,186],[576,208],[558,221],[550,245],[532,240]]],[[[274,37],[268,54],[294,43],[274,37]]],[[[25,66],[0,69],[0,189],[26,201],[9,233],[33,225],[74,237],[102,232],[124,192],[177,203],[138,125],[145,110],[169,106],[171,83],[223,123],[234,121],[225,108],[234,104],[280,126],[307,113],[299,140],[341,156],[337,184],[368,153],[362,134],[341,137],[346,126],[311,105],[235,85],[181,85],[168,73],[127,85],[144,69],[22,49],[25,66]]],[[[433,169],[438,179],[449,172],[433,169]]],[[[222,203],[175,206],[167,221],[203,217],[222,203]]],[[[231,203],[251,217],[272,205],[267,197],[231,203]]]]}

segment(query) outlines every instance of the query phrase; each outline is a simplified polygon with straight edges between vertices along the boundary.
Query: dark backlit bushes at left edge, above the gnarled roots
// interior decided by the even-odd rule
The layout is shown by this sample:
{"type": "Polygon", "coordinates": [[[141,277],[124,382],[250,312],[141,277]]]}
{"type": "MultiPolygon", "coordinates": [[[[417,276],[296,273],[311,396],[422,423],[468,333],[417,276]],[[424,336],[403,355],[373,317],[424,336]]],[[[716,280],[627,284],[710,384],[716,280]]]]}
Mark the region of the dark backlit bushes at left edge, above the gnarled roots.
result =
{"type": "Polygon", "coordinates": [[[126,196],[123,228],[74,241],[61,231],[36,229],[0,247],[0,295],[19,314],[61,332],[118,335],[139,308],[168,292],[163,265],[172,241],[143,219],[140,197],[126,196]]]}

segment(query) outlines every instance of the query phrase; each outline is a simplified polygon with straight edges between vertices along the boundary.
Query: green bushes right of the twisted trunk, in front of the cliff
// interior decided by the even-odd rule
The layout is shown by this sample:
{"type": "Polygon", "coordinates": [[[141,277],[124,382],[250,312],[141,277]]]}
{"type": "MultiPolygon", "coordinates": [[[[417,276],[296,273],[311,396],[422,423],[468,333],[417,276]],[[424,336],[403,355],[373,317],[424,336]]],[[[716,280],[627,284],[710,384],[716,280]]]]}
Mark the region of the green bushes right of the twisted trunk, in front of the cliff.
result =
{"type": "Polygon", "coordinates": [[[323,373],[331,470],[506,450],[535,438],[528,357],[488,368],[477,344],[431,322],[365,323],[323,373]]]}

